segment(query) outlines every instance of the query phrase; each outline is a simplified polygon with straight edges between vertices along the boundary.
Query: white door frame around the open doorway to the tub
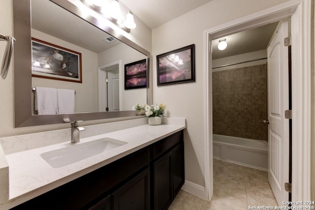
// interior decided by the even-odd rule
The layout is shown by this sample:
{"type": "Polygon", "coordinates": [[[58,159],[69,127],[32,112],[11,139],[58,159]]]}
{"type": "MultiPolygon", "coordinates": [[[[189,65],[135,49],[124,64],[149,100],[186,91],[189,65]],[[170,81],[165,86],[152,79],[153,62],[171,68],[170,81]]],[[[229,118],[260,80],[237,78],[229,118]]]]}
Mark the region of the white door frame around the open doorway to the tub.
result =
{"type": "Polygon", "coordinates": [[[213,196],[211,40],[291,18],[292,201],[311,198],[311,0],[289,0],[204,31],[204,199],[213,196]]]}

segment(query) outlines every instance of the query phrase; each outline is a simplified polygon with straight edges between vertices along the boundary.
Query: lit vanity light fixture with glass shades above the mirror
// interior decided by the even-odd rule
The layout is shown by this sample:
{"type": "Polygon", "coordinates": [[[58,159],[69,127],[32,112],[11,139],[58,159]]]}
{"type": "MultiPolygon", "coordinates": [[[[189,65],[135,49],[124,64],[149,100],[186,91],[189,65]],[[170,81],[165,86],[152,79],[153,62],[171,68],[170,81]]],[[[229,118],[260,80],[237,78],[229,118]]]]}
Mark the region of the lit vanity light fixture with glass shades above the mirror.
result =
{"type": "Polygon", "coordinates": [[[136,28],[136,24],[134,23],[133,14],[129,11],[126,15],[126,21],[122,20],[121,10],[119,6],[118,0],[112,0],[110,4],[105,5],[104,1],[100,0],[80,0],[85,6],[93,9],[95,12],[100,14],[105,19],[111,21],[120,29],[125,30],[130,33],[130,29],[136,28]],[[105,14],[103,11],[105,6],[109,7],[109,14],[105,14]]]}

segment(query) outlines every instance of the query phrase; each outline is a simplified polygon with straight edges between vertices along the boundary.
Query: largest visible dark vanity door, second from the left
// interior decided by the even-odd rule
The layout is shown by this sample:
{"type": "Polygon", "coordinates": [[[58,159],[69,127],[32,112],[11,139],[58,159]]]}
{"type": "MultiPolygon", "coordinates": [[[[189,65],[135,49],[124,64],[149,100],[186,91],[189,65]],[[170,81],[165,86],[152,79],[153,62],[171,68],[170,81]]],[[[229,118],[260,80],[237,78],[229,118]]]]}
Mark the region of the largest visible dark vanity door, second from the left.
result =
{"type": "Polygon", "coordinates": [[[150,168],[113,194],[113,210],[150,210],[150,168]]]}

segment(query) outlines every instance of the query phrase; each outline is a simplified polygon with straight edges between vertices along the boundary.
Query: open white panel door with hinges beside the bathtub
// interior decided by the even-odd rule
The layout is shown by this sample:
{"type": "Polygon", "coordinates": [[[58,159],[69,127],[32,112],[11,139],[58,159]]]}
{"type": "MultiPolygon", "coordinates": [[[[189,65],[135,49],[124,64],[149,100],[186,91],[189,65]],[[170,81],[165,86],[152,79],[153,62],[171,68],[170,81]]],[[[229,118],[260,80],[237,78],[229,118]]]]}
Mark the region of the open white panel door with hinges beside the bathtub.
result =
{"type": "Polygon", "coordinates": [[[289,179],[289,120],[284,118],[288,109],[288,47],[284,38],[288,36],[288,22],[279,23],[268,54],[268,180],[278,205],[288,201],[284,183],[289,179]]]}

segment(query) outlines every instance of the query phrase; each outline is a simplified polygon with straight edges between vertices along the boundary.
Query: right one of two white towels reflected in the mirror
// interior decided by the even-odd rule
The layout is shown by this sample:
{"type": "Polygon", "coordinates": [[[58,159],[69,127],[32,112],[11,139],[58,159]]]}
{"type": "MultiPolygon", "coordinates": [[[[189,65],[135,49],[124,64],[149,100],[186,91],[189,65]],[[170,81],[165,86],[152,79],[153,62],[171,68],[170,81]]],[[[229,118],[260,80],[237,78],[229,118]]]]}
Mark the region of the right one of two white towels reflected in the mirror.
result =
{"type": "Polygon", "coordinates": [[[57,89],[58,114],[74,113],[74,90],[57,89]]]}

